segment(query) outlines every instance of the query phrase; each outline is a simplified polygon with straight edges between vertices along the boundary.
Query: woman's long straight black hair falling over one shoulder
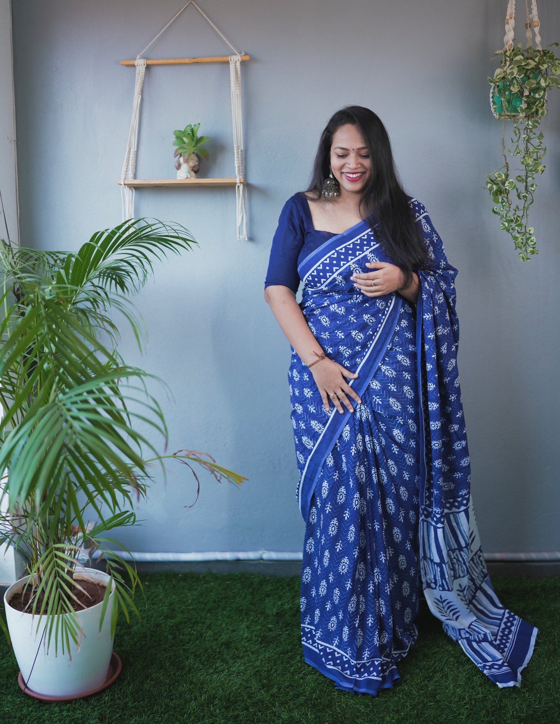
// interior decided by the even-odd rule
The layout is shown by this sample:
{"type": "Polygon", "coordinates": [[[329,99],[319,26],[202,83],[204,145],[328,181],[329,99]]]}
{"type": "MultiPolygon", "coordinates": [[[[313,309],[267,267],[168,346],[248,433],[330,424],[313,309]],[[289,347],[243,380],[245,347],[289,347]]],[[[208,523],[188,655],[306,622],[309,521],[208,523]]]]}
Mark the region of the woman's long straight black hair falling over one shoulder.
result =
{"type": "Polygon", "coordinates": [[[388,132],[373,111],[362,106],[346,106],[333,115],[322,132],[307,193],[317,200],[322,197],[323,184],[330,174],[333,135],[340,126],[347,124],[359,128],[372,162],[372,177],[359,204],[360,215],[367,220],[385,252],[403,271],[403,287],[407,287],[412,281],[412,272],[425,269],[429,257],[414,221],[409,197],[398,178],[388,132]]]}

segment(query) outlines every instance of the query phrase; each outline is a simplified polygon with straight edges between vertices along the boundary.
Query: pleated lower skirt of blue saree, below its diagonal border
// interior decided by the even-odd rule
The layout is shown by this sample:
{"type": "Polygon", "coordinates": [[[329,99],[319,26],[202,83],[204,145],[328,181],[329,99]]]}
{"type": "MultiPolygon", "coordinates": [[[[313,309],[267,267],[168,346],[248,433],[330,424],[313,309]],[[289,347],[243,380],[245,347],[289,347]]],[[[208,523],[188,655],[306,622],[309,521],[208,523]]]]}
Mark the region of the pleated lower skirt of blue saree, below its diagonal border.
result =
{"type": "Polygon", "coordinates": [[[370,694],[398,679],[396,662],[417,636],[419,421],[414,345],[403,334],[413,324],[406,305],[317,479],[306,526],[306,661],[338,688],[370,694]]]}

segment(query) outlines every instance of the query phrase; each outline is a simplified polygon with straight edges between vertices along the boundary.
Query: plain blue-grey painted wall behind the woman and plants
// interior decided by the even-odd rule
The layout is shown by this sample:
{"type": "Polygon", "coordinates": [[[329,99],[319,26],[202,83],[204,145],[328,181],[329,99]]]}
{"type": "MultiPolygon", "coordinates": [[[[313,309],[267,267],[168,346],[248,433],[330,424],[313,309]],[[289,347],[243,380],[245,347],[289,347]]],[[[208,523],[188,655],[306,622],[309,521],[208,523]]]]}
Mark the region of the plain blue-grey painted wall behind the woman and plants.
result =
{"type": "MultiPolygon", "coordinates": [[[[540,0],[543,41],[560,8],[540,0]]],[[[17,0],[14,72],[22,243],[76,249],[120,221],[116,185],[132,109],[133,58],[177,0],[17,0]]],[[[286,372],[289,348],[262,298],[286,198],[304,188],[318,135],[345,104],[383,118],[406,188],[427,206],[459,268],[459,365],[472,489],[487,551],[560,549],[558,470],[560,94],[543,123],[546,174],[532,210],[540,256],[527,264],[498,228],[482,188],[501,164],[487,75],[505,0],[204,0],[243,64],[251,241],[235,241],[232,189],[141,190],[137,213],[182,222],[200,248],[156,270],[138,298],[149,330],[140,357],[170,384],[170,449],[211,452],[248,476],[241,490],[182,469],[159,478],[132,550],[300,549],[286,372]]],[[[522,26],[522,22],[519,22],[522,26]]],[[[518,33],[519,37],[522,33],[518,33]]],[[[227,53],[192,7],[151,57],[227,53]]],[[[210,176],[233,174],[226,65],[146,72],[138,177],[171,177],[172,130],[201,122],[210,176]]]]}

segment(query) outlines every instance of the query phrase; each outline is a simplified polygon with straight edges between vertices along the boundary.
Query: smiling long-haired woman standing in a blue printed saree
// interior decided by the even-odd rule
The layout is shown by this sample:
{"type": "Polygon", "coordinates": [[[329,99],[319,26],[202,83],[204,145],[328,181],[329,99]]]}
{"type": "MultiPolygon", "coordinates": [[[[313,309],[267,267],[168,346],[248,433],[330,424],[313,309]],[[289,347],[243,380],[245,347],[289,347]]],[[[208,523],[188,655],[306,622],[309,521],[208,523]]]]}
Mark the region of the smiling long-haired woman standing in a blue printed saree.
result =
{"type": "Polygon", "coordinates": [[[335,113],[309,190],[280,215],[264,295],[293,350],[304,655],[339,689],[398,680],[419,573],[432,613],[498,686],[519,686],[532,654],[537,630],[498,601],[470,502],[456,274],[380,119],[335,113]]]}

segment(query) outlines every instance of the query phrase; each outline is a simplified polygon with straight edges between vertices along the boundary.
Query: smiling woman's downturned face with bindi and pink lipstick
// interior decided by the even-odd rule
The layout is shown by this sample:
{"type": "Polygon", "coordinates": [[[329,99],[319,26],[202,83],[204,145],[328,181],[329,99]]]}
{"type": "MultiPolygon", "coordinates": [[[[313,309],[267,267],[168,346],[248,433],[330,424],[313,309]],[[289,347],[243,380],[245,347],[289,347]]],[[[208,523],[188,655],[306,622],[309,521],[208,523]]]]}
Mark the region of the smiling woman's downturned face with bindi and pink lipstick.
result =
{"type": "Polygon", "coordinates": [[[350,193],[363,193],[372,177],[372,161],[357,126],[348,123],[334,132],[330,167],[341,189],[350,193]]]}

